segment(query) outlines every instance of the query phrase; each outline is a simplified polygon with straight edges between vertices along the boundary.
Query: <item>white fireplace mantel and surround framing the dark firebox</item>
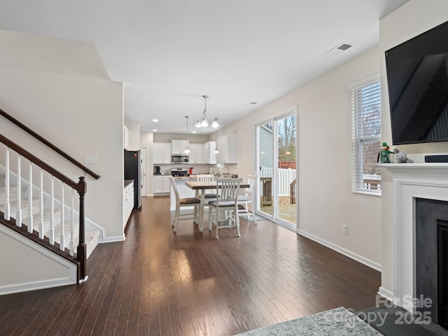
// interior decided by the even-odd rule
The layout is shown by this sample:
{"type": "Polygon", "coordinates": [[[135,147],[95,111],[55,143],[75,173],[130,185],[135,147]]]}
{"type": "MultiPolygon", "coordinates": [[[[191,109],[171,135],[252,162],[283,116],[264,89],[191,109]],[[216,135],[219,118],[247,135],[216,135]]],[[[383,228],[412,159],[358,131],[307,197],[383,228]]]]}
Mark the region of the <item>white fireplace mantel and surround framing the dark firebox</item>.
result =
{"type": "Polygon", "coordinates": [[[415,313],[415,200],[448,201],[448,163],[380,164],[391,172],[395,205],[395,281],[393,301],[415,313]]]}

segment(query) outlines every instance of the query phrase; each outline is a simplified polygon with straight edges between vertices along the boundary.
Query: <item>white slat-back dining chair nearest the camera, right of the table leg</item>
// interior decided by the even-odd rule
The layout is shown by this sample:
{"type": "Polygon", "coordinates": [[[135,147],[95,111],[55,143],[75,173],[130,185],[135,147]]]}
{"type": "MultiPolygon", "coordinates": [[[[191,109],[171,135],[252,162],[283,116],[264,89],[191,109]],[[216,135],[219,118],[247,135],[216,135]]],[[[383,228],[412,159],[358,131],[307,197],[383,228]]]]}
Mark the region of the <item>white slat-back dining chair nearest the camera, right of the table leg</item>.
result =
{"type": "Polygon", "coordinates": [[[215,225],[215,238],[218,239],[219,230],[237,228],[237,236],[239,237],[239,179],[217,179],[216,190],[218,197],[216,200],[209,201],[209,230],[215,225]]]}

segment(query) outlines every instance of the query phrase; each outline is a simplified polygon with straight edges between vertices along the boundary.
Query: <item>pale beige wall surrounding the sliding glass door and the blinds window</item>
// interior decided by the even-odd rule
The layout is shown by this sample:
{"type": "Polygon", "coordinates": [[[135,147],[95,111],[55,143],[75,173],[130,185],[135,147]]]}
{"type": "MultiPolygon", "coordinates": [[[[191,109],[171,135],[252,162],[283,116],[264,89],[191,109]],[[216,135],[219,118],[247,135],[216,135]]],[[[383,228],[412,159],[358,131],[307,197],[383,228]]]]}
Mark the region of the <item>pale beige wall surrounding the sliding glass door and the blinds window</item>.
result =
{"type": "MultiPolygon", "coordinates": [[[[329,56],[333,57],[333,56],[329,56]]],[[[343,55],[337,57],[344,57],[343,55]]],[[[220,130],[238,134],[238,172],[254,170],[254,125],[298,106],[300,233],[379,269],[381,198],[351,193],[351,105],[347,86],[379,73],[375,48],[220,130]],[[349,235],[342,234],[342,225],[349,235]]]]}

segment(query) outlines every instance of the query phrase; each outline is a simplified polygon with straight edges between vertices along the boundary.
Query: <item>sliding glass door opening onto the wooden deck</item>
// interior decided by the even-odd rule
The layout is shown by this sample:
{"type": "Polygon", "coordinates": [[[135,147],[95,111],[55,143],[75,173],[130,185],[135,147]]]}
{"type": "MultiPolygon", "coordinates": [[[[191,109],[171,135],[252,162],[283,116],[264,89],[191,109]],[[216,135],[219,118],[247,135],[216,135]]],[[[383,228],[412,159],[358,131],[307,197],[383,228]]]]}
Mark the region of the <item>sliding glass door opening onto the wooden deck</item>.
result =
{"type": "Polygon", "coordinates": [[[257,127],[258,211],[297,228],[297,109],[257,127]]]}

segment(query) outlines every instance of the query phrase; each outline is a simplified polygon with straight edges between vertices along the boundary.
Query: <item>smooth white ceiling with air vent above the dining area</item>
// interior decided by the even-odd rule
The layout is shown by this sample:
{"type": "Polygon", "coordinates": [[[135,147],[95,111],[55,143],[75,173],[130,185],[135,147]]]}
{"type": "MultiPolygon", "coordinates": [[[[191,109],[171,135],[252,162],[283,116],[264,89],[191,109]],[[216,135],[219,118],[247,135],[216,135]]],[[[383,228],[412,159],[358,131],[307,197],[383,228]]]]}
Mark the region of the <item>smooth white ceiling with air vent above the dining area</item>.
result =
{"type": "Polygon", "coordinates": [[[228,125],[374,48],[379,19],[407,1],[0,0],[0,29],[94,43],[125,84],[125,121],[175,133],[188,115],[190,132],[202,95],[228,125]]]}

